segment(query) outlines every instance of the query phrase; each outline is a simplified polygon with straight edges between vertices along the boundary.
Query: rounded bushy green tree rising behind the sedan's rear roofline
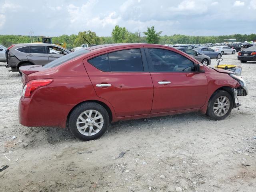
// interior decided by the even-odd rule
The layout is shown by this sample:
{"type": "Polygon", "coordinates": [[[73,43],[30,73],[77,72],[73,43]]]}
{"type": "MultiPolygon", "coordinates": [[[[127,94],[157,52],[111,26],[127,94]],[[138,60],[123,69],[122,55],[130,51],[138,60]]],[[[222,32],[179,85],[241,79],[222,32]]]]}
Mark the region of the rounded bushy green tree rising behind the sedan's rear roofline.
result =
{"type": "Polygon", "coordinates": [[[102,38],[97,36],[95,32],[88,30],[88,31],[78,33],[78,35],[76,36],[76,39],[74,40],[74,47],[79,47],[84,43],[88,43],[86,40],[90,42],[90,44],[96,44],[96,45],[102,44],[103,42],[102,38]]]}

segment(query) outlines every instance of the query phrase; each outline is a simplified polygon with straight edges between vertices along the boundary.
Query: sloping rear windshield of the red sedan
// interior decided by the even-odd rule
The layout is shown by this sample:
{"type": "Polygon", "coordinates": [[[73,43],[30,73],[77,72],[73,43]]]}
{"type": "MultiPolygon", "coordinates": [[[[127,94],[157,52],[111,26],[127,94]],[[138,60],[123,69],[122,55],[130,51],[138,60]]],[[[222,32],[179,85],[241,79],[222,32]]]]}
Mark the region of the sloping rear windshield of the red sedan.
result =
{"type": "Polygon", "coordinates": [[[56,59],[56,60],[54,60],[54,61],[52,61],[52,62],[46,64],[46,65],[44,65],[44,67],[45,67],[45,68],[53,68],[53,67],[56,67],[56,66],[58,66],[58,65],[60,65],[60,64],[62,64],[62,63],[64,63],[64,62],[67,62],[67,61],[69,61],[69,60],[72,60],[73,58],[76,58],[76,57],[81,56],[81,55],[83,55],[83,54],[85,54],[85,53],[88,53],[88,52],[90,52],[90,51],[87,50],[87,49],[80,49],[80,50],[77,50],[77,51],[75,51],[75,52],[66,54],[66,55],[64,55],[64,56],[62,56],[62,57],[60,57],[60,58],[58,58],[58,59],[56,59]]]}

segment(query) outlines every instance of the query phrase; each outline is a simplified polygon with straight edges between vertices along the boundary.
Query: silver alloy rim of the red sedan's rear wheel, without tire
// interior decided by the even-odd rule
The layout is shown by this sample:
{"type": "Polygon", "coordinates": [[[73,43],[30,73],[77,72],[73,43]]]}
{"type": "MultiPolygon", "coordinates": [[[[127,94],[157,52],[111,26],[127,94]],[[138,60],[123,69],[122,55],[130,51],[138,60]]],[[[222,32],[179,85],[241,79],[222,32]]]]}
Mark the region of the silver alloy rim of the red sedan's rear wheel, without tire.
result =
{"type": "Polygon", "coordinates": [[[103,127],[104,119],[97,110],[86,110],[76,120],[76,128],[85,136],[97,134],[103,127]]]}

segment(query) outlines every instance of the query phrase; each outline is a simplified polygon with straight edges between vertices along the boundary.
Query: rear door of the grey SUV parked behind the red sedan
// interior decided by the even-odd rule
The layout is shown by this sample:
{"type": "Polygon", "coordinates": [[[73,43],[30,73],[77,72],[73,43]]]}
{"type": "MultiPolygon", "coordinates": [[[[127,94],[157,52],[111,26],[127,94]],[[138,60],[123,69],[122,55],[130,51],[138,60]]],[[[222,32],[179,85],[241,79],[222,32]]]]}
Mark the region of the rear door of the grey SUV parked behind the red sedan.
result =
{"type": "Polygon", "coordinates": [[[35,65],[44,65],[49,62],[46,48],[43,45],[29,46],[29,51],[26,56],[28,60],[35,65]]]}

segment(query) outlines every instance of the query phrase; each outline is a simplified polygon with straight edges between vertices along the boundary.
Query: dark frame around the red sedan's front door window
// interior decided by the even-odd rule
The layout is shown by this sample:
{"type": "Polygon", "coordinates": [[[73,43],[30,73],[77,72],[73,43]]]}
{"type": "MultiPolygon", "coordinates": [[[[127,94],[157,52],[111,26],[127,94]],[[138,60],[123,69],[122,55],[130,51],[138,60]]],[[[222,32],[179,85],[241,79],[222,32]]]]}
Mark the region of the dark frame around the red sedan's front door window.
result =
{"type": "Polygon", "coordinates": [[[148,58],[148,64],[149,64],[148,66],[149,66],[149,72],[150,73],[197,73],[197,71],[196,71],[196,63],[193,60],[191,60],[190,58],[188,58],[188,57],[186,57],[186,56],[184,56],[184,55],[182,55],[182,54],[180,54],[178,52],[175,52],[174,50],[169,50],[169,49],[160,48],[160,47],[147,47],[147,48],[145,47],[144,49],[145,49],[145,52],[146,52],[146,56],[148,58]],[[151,56],[150,56],[150,53],[149,53],[148,49],[163,49],[163,50],[174,52],[176,54],[180,54],[181,56],[183,56],[184,58],[190,60],[193,63],[195,71],[154,71],[152,59],[151,59],[151,56]]]}

